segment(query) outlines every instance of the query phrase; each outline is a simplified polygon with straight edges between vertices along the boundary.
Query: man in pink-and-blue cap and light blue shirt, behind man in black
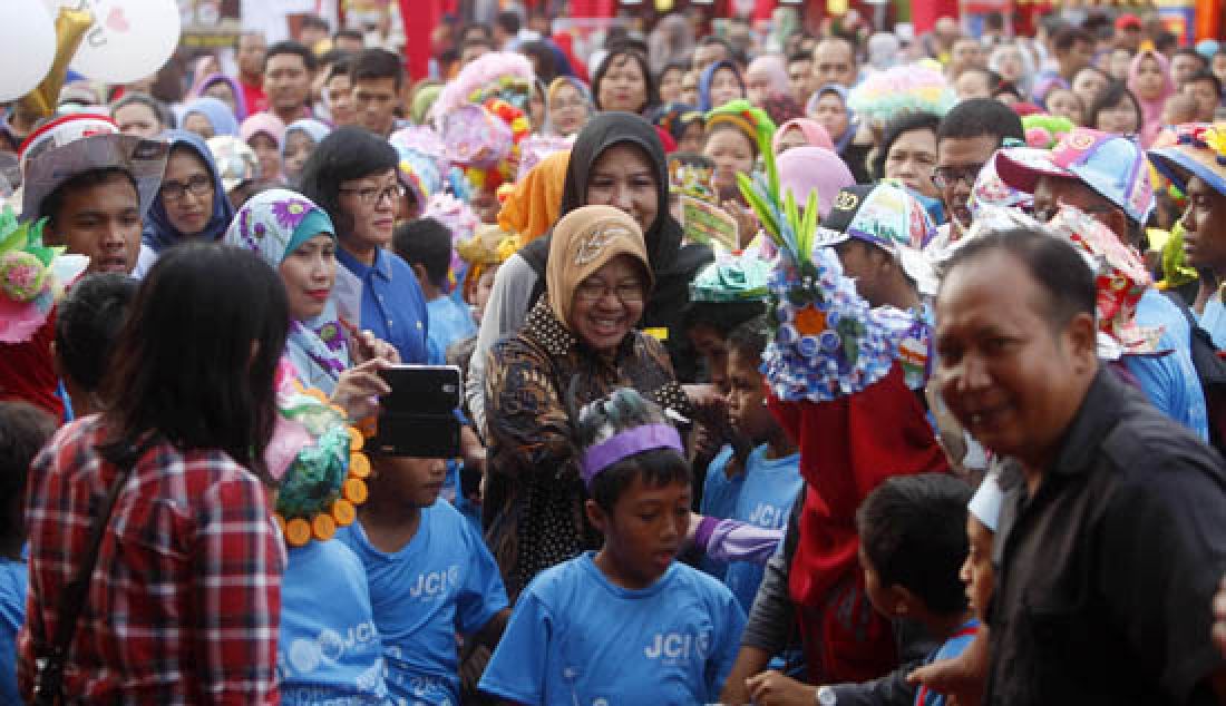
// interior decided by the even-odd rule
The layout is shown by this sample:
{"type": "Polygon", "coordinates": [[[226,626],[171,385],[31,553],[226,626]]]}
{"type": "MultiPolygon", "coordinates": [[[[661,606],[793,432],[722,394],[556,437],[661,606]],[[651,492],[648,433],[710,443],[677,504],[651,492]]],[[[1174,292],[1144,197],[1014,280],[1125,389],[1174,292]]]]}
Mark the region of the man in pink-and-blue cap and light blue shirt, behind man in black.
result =
{"type": "MultiPolygon", "coordinates": [[[[1042,221],[1060,206],[1075,206],[1137,248],[1154,211],[1145,152],[1137,142],[1110,132],[1076,127],[1051,152],[1002,150],[997,173],[1009,186],[1035,195],[1035,216],[1042,221]]],[[[1122,360],[1159,411],[1182,423],[1201,440],[1209,439],[1209,414],[1200,379],[1192,364],[1192,327],[1179,308],[1150,286],[1137,304],[1137,324],[1162,331],[1167,355],[1125,355],[1122,360]]]]}

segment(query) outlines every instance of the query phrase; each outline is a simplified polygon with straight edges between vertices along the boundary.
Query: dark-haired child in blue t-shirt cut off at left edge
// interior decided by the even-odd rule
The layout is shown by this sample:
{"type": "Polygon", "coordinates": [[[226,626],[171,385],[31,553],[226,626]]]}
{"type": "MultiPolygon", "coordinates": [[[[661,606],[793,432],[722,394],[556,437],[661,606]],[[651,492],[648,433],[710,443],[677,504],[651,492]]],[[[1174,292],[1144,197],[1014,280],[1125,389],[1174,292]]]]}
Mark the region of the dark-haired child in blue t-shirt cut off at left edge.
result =
{"type": "Polygon", "coordinates": [[[0,402],[0,704],[17,693],[17,631],[26,621],[26,474],[55,433],[55,418],[26,402],[0,402]]]}

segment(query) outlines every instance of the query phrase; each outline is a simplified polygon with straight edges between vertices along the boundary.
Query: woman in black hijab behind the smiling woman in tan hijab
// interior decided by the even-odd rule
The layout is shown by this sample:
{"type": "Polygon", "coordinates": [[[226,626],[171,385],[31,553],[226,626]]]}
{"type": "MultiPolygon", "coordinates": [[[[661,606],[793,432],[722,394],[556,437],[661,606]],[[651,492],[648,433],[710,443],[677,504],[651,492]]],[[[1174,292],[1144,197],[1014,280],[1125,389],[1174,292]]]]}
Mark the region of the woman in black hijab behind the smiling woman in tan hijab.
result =
{"type": "MultiPolygon", "coordinates": [[[[617,206],[642,228],[656,286],[639,327],[660,338],[677,379],[693,382],[696,358],[682,320],[689,283],[707,262],[705,245],[682,245],[682,227],[668,212],[668,168],[656,129],[631,113],[600,113],[575,140],[562,195],[562,214],[580,206],[617,206]]],[[[468,370],[467,398],[478,429],[484,428],[485,355],[495,341],[514,333],[544,292],[549,238],[512,255],[494,277],[489,304],[468,370]]]]}

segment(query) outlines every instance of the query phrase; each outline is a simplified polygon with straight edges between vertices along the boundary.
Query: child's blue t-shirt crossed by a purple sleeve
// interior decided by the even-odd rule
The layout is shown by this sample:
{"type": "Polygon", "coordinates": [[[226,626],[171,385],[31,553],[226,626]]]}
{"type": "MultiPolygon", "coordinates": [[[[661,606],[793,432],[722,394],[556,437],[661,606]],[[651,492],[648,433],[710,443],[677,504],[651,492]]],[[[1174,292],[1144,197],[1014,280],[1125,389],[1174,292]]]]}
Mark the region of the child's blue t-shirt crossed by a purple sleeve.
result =
{"type": "MultiPolygon", "coordinates": [[[[801,492],[801,455],[767,458],[766,445],[753,450],[745,462],[745,480],[733,520],[766,530],[787,527],[792,503],[801,492]]],[[[754,605],[764,567],[753,561],[733,561],[725,571],[723,582],[741,602],[745,613],[754,605]]]]}

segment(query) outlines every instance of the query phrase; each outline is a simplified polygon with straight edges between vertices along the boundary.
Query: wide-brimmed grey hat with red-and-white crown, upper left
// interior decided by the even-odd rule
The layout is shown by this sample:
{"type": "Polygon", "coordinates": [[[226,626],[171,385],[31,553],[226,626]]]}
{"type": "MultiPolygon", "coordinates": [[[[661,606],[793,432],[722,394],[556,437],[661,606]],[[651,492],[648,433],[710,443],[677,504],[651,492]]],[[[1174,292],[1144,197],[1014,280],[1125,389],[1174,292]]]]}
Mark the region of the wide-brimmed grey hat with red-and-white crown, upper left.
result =
{"type": "Polygon", "coordinates": [[[162,185],[169,150],[162,140],[120,134],[105,115],[78,113],[51,120],[31,134],[20,150],[25,184],[21,217],[38,218],[43,200],[72,176],[114,167],[136,180],[143,216],[162,185]]]}

